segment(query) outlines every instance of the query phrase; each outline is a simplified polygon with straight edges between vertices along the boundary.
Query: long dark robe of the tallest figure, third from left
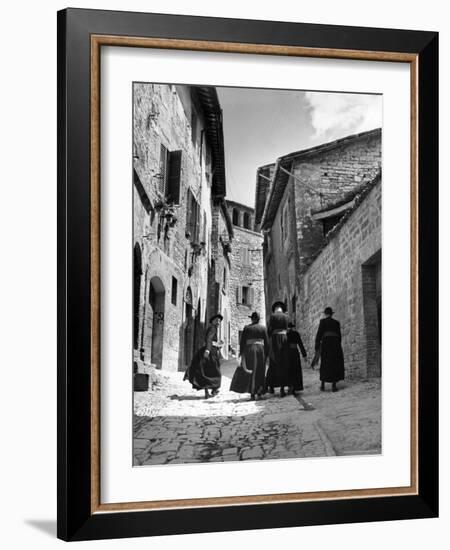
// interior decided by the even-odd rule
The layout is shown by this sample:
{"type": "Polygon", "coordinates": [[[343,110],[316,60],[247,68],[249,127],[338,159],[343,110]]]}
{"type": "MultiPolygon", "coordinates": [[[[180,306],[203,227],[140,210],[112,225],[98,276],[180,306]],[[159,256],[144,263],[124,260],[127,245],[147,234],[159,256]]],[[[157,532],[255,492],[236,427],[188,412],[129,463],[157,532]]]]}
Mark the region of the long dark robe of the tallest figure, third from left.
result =
{"type": "Polygon", "coordinates": [[[288,317],[285,313],[273,313],[269,318],[267,333],[270,342],[269,368],[266,387],[289,385],[289,354],[287,347],[288,317]]]}

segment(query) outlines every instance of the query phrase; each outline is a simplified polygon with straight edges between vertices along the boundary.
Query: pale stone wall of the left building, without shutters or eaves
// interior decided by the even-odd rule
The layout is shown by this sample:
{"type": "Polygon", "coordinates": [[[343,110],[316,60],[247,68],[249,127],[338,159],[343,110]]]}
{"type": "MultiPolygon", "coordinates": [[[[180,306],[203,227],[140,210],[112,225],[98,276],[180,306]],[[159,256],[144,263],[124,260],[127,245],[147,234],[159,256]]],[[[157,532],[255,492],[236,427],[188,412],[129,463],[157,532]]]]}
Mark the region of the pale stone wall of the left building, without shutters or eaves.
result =
{"type": "Polygon", "coordinates": [[[200,110],[192,132],[192,97],[187,86],[135,83],[133,88],[133,236],[135,257],[141,256],[134,276],[135,359],[170,370],[185,368],[201,340],[210,266],[211,155],[205,140],[201,143],[200,110]],[[160,208],[161,145],[181,151],[180,196],[169,217],[160,208]],[[194,249],[187,236],[188,190],[199,204],[202,249],[194,249]]]}

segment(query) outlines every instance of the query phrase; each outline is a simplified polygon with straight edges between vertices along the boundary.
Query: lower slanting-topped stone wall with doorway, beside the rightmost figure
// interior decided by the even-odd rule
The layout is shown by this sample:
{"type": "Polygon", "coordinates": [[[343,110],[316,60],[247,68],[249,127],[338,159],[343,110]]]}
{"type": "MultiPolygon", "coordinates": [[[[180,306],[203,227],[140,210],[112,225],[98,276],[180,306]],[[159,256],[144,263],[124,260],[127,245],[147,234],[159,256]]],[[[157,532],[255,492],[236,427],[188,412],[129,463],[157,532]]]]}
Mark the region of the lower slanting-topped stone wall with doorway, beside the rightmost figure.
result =
{"type": "Polygon", "coordinates": [[[346,377],[381,373],[377,294],[381,294],[381,182],[331,233],[328,244],[304,272],[299,330],[310,355],[330,306],[341,323],[346,377]]]}

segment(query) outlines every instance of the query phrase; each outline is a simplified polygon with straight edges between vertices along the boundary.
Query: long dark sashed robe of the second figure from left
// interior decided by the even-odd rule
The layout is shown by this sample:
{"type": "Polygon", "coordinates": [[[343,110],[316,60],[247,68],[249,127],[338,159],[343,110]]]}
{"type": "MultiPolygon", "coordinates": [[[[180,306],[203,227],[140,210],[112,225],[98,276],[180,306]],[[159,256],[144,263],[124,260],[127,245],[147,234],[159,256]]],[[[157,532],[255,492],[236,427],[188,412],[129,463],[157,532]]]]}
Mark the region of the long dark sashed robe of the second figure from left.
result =
{"type": "Polygon", "coordinates": [[[231,380],[231,391],[251,395],[264,392],[268,351],[269,339],[266,328],[259,323],[246,325],[241,335],[240,353],[245,368],[251,371],[251,374],[239,366],[231,380]],[[263,344],[251,343],[252,340],[262,340],[263,344]]]}

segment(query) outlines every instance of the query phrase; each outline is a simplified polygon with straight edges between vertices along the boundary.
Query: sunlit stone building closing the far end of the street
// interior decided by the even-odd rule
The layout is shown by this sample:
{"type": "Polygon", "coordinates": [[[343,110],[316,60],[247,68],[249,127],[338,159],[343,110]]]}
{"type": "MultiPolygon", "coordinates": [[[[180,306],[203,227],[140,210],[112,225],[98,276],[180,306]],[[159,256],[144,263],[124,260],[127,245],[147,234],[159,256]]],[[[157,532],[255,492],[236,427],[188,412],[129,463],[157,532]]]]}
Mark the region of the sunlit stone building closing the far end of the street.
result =
{"type": "Polygon", "coordinates": [[[263,236],[254,230],[253,208],[234,201],[227,201],[233,222],[231,248],[229,341],[232,353],[239,351],[242,329],[250,322],[249,315],[257,311],[265,324],[263,236]]]}

